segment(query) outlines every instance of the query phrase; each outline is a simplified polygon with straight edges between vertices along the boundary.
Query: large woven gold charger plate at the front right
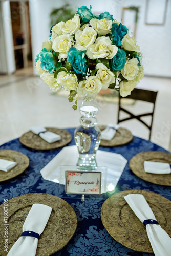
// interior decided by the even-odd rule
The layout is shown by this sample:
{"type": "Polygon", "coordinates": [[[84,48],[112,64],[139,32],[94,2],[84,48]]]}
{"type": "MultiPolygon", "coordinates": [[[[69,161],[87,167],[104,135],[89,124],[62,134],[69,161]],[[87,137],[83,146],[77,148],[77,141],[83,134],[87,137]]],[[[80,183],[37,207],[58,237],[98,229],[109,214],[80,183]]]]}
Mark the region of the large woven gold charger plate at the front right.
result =
{"type": "Polygon", "coordinates": [[[108,233],[122,245],[140,252],[153,253],[146,228],[126,203],[124,196],[142,194],[161,227],[171,236],[171,202],[151,191],[127,190],[117,193],[101,207],[101,220],[108,233]]]}

